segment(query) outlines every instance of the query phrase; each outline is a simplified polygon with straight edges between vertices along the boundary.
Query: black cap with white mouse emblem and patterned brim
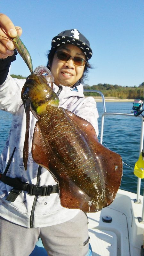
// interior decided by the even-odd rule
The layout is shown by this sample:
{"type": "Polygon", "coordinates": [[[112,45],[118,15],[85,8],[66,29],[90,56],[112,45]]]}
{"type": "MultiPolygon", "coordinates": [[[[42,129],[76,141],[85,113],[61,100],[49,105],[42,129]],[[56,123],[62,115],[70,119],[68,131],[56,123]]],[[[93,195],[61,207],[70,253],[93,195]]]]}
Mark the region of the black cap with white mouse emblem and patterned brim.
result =
{"type": "Polygon", "coordinates": [[[65,30],[53,37],[52,49],[57,49],[63,44],[74,44],[79,47],[84,52],[86,60],[90,60],[92,57],[92,49],[89,41],[77,29],[65,30]]]}

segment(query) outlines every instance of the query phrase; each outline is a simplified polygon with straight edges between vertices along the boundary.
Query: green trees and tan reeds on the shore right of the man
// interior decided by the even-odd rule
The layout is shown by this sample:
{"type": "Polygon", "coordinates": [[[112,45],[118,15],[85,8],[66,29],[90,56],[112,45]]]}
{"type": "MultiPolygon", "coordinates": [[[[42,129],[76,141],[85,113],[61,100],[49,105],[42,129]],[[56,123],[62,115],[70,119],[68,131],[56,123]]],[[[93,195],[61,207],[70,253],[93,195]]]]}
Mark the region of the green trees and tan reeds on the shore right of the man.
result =
{"type": "MultiPolygon", "coordinates": [[[[104,94],[105,97],[116,97],[119,99],[141,99],[144,98],[144,82],[137,86],[121,86],[112,84],[97,84],[89,86],[84,85],[85,90],[97,90],[104,94]]],[[[85,96],[99,96],[95,92],[84,92],[85,96]]]]}

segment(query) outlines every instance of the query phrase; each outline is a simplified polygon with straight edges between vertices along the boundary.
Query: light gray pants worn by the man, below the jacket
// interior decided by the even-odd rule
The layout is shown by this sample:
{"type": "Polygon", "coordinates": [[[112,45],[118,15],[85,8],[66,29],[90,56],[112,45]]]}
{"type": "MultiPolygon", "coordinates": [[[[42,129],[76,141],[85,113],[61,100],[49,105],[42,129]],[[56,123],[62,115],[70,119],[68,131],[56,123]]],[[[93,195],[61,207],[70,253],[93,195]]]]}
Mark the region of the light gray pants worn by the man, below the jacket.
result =
{"type": "Polygon", "coordinates": [[[44,228],[25,228],[0,217],[0,256],[29,256],[38,238],[49,256],[85,256],[89,251],[89,242],[84,245],[87,223],[82,211],[67,222],[44,228]]]}

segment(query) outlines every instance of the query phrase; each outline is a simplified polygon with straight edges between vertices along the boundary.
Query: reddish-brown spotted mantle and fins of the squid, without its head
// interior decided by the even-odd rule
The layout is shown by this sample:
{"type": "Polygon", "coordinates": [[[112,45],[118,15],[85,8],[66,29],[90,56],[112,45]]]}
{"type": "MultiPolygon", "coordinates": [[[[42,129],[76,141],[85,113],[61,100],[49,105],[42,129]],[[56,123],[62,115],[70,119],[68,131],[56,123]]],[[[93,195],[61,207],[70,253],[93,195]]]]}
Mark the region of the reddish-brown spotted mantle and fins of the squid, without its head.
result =
{"type": "Polygon", "coordinates": [[[36,122],[32,157],[58,182],[63,207],[100,211],[120,187],[121,156],[102,146],[93,126],[67,109],[46,107],[36,122]]]}

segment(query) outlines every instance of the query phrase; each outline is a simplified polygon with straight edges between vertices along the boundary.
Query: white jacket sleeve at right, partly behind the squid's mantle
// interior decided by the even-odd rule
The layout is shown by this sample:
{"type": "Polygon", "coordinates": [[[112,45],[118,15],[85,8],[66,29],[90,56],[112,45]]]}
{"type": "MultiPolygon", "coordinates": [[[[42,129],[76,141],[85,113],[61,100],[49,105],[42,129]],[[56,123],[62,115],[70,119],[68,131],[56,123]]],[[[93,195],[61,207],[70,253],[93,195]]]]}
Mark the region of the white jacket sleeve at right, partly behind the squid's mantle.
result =
{"type": "Polygon", "coordinates": [[[80,116],[90,122],[94,127],[96,134],[98,136],[99,129],[98,129],[98,110],[96,107],[96,102],[94,98],[87,97],[82,102],[81,106],[79,106],[75,112],[77,116],[80,116]]]}

